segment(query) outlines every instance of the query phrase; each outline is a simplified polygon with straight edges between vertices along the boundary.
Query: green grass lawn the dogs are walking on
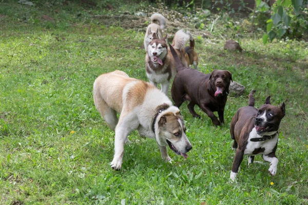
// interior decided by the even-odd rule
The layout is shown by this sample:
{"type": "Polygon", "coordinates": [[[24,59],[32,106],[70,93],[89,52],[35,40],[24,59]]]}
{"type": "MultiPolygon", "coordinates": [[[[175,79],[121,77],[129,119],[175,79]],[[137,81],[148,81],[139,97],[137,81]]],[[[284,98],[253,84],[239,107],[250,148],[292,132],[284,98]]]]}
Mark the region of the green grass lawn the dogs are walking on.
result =
{"type": "MultiPolygon", "coordinates": [[[[5,1],[6,2],[6,1],[5,1]]],[[[227,69],[246,87],[228,97],[225,124],[215,127],[199,108],[181,112],[193,149],[188,158],[163,162],[156,142],[137,132],[113,171],[114,132],[92,99],[100,74],[115,69],[147,80],[144,31],[105,27],[80,5],[25,7],[0,3],[0,203],[11,204],[307,204],[308,44],[242,38],[242,53],[226,52],[223,39],[196,40],[202,72],[227,69]],[[52,22],[41,16],[53,17],[52,22]],[[215,44],[213,43],[215,42],[215,44]],[[256,89],[256,106],[268,95],[286,103],[277,156],[241,164],[229,182],[234,152],[229,122],[256,89]],[[74,131],[72,133],[71,131],[74,131]],[[274,185],[271,185],[274,182],[274,185]]],[[[215,32],[213,33],[215,37],[215,32]]]]}

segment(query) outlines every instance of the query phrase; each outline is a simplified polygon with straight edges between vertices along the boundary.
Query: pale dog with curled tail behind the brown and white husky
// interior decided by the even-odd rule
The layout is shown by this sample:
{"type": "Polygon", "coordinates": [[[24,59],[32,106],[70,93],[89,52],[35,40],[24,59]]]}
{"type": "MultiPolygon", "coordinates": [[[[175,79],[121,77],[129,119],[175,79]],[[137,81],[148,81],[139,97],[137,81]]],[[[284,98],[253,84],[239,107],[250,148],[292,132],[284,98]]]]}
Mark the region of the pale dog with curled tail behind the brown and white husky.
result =
{"type": "Polygon", "coordinates": [[[151,15],[151,24],[147,27],[145,36],[144,36],[144,49],[147,52],[149,43],[153,39],[153,34],[155,33],[158,38],[163,38],[162,29],[166,26],[166,19],[160,13],[154,13],[151,15]]]}

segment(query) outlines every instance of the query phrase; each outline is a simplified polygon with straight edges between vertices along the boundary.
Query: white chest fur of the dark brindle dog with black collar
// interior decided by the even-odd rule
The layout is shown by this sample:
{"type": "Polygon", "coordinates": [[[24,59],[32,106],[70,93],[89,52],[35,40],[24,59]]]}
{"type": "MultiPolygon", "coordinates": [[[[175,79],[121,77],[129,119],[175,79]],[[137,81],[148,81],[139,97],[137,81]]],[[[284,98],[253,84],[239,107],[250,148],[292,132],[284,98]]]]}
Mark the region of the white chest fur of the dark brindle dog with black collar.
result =
{"type": "MultiPolygon", "coordinates": [[[[272,135],[274,133],[268,133],[267,135],[272,135]]],[[[246,149],[244,151],[244,154],[249,154],[249,155],[255,155],[252,154],[256,149],[263,149],[263,152],[260,152],[258,154],[269,154],[273,151],[274,147],[277,144],[278,141],[278,133],[275,134],[275,136],[272,139],[265,140],[265,141],[251,141],[251,138],[256,138],[256,137],[262,137],[258,135],[256,128],[254,128],[250,133],[249,133],[249,138],[248,138],[248,143],[246,146],[246,149]]]]}

